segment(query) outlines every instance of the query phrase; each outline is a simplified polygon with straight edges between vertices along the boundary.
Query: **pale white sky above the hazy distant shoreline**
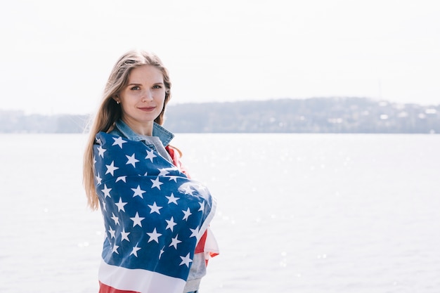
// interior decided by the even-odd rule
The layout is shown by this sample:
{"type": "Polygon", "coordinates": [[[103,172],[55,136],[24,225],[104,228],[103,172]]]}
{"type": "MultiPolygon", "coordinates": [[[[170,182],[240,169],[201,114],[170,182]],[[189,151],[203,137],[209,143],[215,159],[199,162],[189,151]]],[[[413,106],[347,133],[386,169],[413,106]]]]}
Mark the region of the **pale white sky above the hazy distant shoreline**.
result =
{"type": "Polygon", "coordinates": [[[86,114],[131,48],[172,104],[357,96],[440,104],[437,0],[7,1],[0,110],[86,114]]]}

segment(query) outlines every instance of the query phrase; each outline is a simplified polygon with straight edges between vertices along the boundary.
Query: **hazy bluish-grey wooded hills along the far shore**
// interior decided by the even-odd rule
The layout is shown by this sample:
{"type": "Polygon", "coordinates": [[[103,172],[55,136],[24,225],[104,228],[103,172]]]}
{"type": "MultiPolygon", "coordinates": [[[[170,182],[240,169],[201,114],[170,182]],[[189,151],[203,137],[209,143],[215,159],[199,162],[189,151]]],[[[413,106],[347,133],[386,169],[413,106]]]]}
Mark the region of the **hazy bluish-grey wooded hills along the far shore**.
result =
{"type": "MultiPolygon", "coordinates": [[[[438,134],[440,105],[370,98],[249,100],[169,105],[175,133],[438,134]]],[[[1,133],[83,133],[89,115],[25,115],[0,110],[1,133]]]]}

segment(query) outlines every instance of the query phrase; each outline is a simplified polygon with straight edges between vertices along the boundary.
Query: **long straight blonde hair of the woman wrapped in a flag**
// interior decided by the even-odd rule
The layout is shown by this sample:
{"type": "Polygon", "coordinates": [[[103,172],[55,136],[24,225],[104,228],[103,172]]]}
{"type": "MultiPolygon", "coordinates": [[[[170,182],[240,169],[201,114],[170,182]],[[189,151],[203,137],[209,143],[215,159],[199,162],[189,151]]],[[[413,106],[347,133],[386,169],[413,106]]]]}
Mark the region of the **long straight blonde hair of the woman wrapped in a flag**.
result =
{"type": "Polygon", "coordinates": [[[165,106],[171,98],[171,82],[167,68],[164,67],[162,60],[154,53],[146,51],[129,51],[125,53],[113,67],[107,84],[105,84],[103,99],[91,124],[89,139],[86,144],[86,150],[84,151],[83,183],[84,189],[86,190],[87,203],[92,210],[98,209],[99,207],[93,172],[93,144],[95,143],[95,136],[100,131],[110,131],[114,127],[115,122],[121,118],[122,110],[114,98],[119,94],[119,91],[127,85],[131,70],[143,65],[153,65],[163,74],[165,87],[164,108],[155,119],[155,122],[162,125],[164,121],[165,106]]]}

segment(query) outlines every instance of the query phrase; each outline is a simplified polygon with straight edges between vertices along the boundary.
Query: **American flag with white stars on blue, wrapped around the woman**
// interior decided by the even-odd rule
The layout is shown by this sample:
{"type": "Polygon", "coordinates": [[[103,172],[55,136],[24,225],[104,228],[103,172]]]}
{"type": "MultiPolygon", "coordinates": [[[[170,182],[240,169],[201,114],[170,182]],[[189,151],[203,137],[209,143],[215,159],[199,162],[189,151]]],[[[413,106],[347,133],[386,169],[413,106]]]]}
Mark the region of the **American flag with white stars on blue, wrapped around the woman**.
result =
{"type": "Polygon", "coordinates": [[[93,155],[106,232],[101,288],[183,292],[214,198],[142,142],[100,132],[93,155]]]}

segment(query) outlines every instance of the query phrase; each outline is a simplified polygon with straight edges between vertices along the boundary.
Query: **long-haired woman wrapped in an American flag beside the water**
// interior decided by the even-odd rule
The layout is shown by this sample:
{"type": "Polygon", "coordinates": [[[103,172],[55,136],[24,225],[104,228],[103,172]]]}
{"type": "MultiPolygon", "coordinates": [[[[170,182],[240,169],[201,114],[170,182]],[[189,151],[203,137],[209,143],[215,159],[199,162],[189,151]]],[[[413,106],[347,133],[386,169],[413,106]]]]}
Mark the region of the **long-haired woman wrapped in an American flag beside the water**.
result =
{"type": "Polygon", "coordinates": [[[197,292],[209,256],[215,200],[189,178],[161,125],[171,98],[153,53],[129,51],[110,74],[84,154],[84,187],[106,238],[101,293],[197,292]]]}

